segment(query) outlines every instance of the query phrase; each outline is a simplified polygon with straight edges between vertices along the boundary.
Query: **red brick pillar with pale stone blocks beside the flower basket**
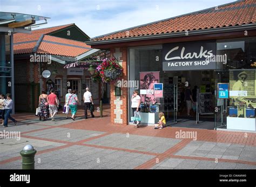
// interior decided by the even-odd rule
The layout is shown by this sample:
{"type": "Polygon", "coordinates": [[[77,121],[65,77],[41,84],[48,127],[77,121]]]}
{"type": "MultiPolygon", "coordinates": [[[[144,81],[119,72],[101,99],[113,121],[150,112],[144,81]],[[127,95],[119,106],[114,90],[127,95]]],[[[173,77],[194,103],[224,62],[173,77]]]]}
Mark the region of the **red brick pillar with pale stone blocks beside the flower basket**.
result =
{"type": "MultiPolygon", "coordinates": [[[[112,56],[119,58],[122,61],[124,68],[124,75],[122,79],[128,80],[127,70],[127,48],[111,49],[112,56]]],[[[114,83],[110,84],[110,105],[111,105],[111,123],[114,124],[128,124],[128,88],[121,88],[121,96],[114,95],[114,83]]]]}

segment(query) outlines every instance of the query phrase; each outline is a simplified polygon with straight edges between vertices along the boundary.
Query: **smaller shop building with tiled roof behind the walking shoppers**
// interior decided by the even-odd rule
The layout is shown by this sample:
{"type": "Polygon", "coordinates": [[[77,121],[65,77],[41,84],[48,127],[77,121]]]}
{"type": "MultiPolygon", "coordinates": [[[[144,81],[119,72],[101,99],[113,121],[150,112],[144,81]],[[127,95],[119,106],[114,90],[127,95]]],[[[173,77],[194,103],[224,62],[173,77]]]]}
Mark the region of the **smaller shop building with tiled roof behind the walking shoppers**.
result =
{"type": "Polygon", "coordinates": [[[89,87],[94,103],[99,104],[110,88],[91,81],[87,69],[97,61],[87,60],[101,51],[91,49],[84,43],[86,40],[89,37],[75,24],[33,30],[31,34],[14,34],[17,112],[34,113],[39,95],[42,91],[50,94],[52,88],[57,91],[62,106],[68,89],[76,90],[83,103],[86,87],[89,87]],[[69,32],[72,34],[64,34],[69,32]]]}

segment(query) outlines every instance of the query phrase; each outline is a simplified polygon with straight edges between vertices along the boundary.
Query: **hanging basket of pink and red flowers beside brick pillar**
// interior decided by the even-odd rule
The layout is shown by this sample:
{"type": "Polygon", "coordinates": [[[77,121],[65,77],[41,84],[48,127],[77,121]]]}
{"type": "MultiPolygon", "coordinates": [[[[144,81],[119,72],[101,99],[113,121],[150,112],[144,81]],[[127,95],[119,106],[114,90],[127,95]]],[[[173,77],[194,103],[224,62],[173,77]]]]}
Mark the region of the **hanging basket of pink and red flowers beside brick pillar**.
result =
{"type": "Polygon", "coordinates": [[[98,65],[95,73],[92,75],[91,79],[93,82],[111,82],[116,81],[118,78],[122,77],[123,67],[116,63],[115,59],[103,59],[102,64],[98,65]]]}

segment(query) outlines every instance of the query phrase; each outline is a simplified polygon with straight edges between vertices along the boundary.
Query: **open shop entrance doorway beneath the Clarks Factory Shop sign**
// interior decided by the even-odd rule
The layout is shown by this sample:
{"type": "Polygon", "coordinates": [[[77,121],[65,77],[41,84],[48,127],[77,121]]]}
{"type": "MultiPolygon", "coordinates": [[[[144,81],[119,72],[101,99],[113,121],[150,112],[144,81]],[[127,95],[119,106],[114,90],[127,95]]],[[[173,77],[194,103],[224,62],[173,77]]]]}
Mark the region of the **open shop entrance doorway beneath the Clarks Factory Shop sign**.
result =
{"type": "Polygon", "coordinates": [[[163,81],[164,98],[160,102],[164,105],[160,110],[164,110],[169,126],[214,129],[214,71],[166,72],[163,81]],[[188,84],[194,100],[192,106],[185,98],[188,84]]]}

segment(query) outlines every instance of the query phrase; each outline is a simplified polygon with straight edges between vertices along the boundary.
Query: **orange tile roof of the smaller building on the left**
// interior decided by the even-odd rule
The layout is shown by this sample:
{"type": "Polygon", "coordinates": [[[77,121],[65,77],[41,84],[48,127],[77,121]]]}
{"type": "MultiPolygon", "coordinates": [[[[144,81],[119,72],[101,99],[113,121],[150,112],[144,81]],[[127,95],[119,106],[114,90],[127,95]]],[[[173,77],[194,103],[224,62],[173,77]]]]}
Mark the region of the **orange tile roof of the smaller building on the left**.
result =
{"type": "Polygon", "coordinates": [[[49,27],[45,29],[33,30],[31,34],[14,34],[14,54],[32,53],[37,41],[44,35],[36,53],[54,54],[67,57],[77,57],[86,51],[91,50],[89,45],[82,41],[64,39],[47,34],[64,29],[73,24],[49,27]]]}

